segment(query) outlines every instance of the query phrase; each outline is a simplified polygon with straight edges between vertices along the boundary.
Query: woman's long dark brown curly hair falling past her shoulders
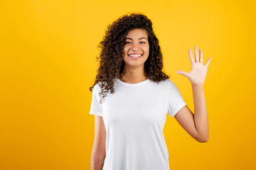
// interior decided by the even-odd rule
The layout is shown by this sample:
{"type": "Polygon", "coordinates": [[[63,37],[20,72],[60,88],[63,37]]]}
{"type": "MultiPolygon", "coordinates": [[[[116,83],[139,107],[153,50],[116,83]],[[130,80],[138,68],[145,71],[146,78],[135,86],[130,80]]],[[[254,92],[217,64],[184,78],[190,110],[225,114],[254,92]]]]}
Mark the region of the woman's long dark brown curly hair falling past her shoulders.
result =
{"type": "MultiPolygon", "coordinates": [[[[99,85],[102,89],[100,96],[103,95],[103,99],[107,96],[109,90],[111,94],[114,93],[113,79],[121,77],[124,70],[122,50],[124,48],[125,38],[129,30],[134,28],[144,29],[148,35],[149,57],[144,62],[146,77],[157,83],[170,78],[162,71],[164,67],[163,56],[159,46],[159,40],[154,34],[151,20],[142,13],[128,13],[107,26],[105,36],[97,46],[101,49],[100,57],[96,57],[97,61],[100,60],[100,67],[97,69],[95,83],[90,86],[90,91],[92,91],[95,84],[100,82],[99,85]]],[[[102,98],[100,103],[102,103],[102,98]]]]}

